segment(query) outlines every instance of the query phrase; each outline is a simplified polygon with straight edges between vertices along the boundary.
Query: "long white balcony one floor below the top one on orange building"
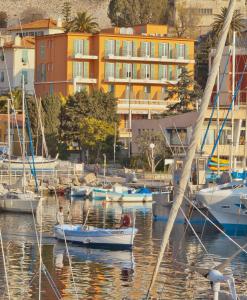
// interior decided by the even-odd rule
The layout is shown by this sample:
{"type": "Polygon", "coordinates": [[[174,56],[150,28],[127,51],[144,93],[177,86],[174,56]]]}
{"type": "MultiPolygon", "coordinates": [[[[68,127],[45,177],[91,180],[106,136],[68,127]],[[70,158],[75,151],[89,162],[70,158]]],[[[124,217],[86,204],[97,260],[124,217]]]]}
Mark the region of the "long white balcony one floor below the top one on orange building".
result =
{"type": "Polygon", "coordinates": [[[172,79],[150,79],[150,78],[128,78],[128,77],[113,77],[108,76],[105,78],[105,82],[113,82],[113,83],[140,83],[140,84],[158,84],[158,85],[165,85],[165,84],[177,84],[178,80],[174,77],[172,79]]]}

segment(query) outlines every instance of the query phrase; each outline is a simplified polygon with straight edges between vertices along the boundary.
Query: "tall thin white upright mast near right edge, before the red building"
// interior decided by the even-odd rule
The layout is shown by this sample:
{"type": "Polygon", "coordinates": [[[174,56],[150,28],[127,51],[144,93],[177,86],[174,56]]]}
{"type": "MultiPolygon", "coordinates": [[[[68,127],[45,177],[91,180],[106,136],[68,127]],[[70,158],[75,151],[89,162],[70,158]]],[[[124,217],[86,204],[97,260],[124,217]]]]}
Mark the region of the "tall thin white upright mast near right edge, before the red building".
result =
{"type": "Polygon", "coordinates": [[[234,95],[235,95],[235,73],[236,73],[236,32],[233,31],[232,36],[232,111],[231,111],[231,158],[230,158],[230,166],[231,166],[231,172],[233,169],[235,169],[235,162],[233,157],[234,152],[234,95]]]}

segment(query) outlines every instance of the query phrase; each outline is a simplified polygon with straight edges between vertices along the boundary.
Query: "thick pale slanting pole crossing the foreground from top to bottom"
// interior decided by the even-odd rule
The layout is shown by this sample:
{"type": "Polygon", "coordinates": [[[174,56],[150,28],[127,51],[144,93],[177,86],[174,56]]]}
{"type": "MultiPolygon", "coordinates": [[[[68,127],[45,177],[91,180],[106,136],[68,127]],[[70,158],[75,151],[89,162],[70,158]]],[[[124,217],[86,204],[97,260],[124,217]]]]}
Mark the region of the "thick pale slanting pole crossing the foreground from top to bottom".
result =
{"type": "Polygon", "coordinates": [[[161,264],[163,256],[164,256],[164,252],[166,250],[175,219],[177,217],[179,208],[183,202],[184,192],[186,190],[186,187],[187,187],[187,184],[188,184],[188,181],[190,178],[192,162],[195,157],[196,149],[198,146],[198,141],[200,141],[202,127],[203,127],[203,123],[205,120],[205,115],[206,115],[206,112],[208,109],[209,101],[211,99],[211,95],[212,95],[212,91],[213,91],[213,88],[215,85],[217,73],[219,71],[220,61],[221,61],[224,47],[226,44],[226,39],[227,39],[227,35],[228,35],[229,28],[231,25],[231,21],[232,21],[234,9],[235,9],[235,4],[236,4],[236,0],[230,0],[228,11],[227,11],[227,16],[225,18],[224,25],[221,30],[221,36],[219,39],[219,43],[218,43],[218,46],[216,49],[216,54],[215,54],[212,70],[209,73],[207,84],[206,84],[204,94],[202,97],[202,104],[200,107],[199,115],[198,115],[194,130],[193,130],[193,134],[192,134],[192,137],[190,140],[190,145],[188,147],[186,160],[184,161],[184,164],[183,164],[179,187],[178,187],[178,189],[175,190],[174,202],[173,202],[173,205],[172,205],[172,208],[171,208],[171,211],[169,214],[169,218],[167,221],[167,225],[166,225],[166,228],[165,228],[165,231],[163,234],[161,249],[160,249],[160,252],[158,255],[157,263],[156,263],[156,266],[155,266],[155,269],[153,272],[152,280],[151,280],[151,283],[150,283],[150,286],[149,286],[149,289],[148,289],[148,292],[146,295],[146,299],[149,299],[150,293],[154,287],[156,277],[158,275],[159,267],[160,267],[160,264],[161,264]]]}

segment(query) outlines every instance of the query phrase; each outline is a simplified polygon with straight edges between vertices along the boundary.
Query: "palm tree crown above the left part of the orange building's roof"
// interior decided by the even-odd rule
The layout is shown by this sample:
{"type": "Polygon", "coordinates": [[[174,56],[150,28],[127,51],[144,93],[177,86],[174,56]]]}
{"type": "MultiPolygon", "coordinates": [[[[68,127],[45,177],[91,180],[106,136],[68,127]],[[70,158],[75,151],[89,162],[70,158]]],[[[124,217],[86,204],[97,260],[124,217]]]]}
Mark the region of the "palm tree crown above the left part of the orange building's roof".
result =
{"type": "Polygon", "coordinates": [[[71,22],[70,31],[96,33],[99,30],[99,25],[94,20],[95,18],[88,16],[86,11],[78,12],[71,22]]]}

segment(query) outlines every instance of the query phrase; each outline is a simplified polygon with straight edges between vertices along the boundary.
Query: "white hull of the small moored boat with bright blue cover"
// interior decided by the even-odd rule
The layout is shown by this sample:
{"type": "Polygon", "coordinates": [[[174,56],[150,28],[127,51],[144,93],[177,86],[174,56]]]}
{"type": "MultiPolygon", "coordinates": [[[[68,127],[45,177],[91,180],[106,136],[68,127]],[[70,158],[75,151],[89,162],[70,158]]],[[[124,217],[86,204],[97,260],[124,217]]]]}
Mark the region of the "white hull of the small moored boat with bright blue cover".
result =
{"type": "Polygon", "coordinates": [[[110,202],[152,202],[152,194],[106,193],[106,201],[110,202]]]}

